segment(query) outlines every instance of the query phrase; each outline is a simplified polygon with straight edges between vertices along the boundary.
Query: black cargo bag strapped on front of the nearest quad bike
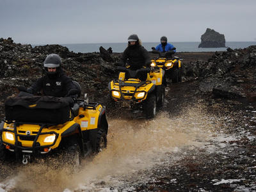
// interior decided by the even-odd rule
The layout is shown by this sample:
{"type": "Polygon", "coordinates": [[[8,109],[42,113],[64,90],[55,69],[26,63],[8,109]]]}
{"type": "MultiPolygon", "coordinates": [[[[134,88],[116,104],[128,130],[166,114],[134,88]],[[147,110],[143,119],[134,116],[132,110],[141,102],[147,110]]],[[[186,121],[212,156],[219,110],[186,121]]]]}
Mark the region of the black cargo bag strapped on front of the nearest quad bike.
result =
{"type": "Polygon", "coordinates": [[[64,124],[70,119],[67,99],[51,96],[10,97],[4,103],[6,120],[64,124]]]}

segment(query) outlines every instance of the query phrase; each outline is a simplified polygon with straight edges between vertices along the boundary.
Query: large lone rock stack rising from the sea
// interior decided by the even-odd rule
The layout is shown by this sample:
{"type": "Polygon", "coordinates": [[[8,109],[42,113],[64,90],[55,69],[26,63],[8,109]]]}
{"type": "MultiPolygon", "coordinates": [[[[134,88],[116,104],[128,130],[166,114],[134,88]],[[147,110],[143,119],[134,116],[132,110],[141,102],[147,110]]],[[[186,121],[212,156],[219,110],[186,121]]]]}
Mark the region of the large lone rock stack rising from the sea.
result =
{"type": "Polygon", "coordinates": [[[198,45],[198,48],[226,47],[225,43],[223,34],[207,28],[204,35],[201,36],[201,44],[198,45]]]}

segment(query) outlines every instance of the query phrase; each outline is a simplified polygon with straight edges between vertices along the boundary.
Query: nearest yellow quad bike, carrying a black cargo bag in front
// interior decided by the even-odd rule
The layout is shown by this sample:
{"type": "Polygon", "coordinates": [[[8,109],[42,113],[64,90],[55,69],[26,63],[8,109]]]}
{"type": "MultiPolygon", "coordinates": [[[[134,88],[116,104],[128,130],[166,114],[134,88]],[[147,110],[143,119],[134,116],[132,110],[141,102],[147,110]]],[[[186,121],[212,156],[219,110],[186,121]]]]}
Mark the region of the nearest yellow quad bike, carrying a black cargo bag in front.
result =
{"type": "Polygon", "coordinates": [[[83,157],[93,157],[107,147],[105,108],[98,102],[89,102],[86,94],[79,99],[81,87],[74,84],[76,89],[68,93],[77,95],[72,108],[68,95],[6,100],[6,116],[0,124],[0,162],[20,160],[27,164],[52,155],[77,168],[83,157]],[[58,107],[53,107],[56,104],[58,107]]]}

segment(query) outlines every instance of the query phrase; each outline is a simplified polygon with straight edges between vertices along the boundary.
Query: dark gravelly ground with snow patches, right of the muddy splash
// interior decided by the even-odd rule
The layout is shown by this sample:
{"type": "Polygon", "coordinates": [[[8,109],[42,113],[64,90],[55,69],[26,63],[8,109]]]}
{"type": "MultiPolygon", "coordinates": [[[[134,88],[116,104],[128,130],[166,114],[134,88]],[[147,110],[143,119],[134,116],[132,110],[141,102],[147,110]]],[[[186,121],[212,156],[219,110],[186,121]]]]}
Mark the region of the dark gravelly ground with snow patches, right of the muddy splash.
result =
{"type": "MultiPolygon", "coordinates": [[[[186,81],[170,86],[164,106],[170,116],[179,116],[184,108],[204,103],[207,114],[224,118],[217,132],[235,134],[236,140],[212,141],[216,152],[209,154],[195,149],[179,161],[156,167],[152,182],[138,191],[255,191],[256,190],[256,129],[255,103],[246,99],[224,99],[209,93],[202,95],[204,80],[186,81]],[[223,147],[222,145],[225,145],[223,147]],[[221,152],[220,152],[220,151],[221,152]]],[[[170,156],[171,158],[171,156],[170,156]]]]}

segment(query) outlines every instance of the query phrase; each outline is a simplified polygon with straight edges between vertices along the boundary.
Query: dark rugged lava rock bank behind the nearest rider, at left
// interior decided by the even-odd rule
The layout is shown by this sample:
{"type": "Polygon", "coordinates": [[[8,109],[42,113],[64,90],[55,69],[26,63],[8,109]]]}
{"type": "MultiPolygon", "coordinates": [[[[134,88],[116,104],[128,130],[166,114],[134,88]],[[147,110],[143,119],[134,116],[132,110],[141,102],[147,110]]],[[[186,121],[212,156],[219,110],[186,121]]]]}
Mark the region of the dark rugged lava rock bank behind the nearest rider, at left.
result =
{"type": "MultiPolygon", "coordinates": [[[[119,54],[111,55],[104,48],[101,52],[76,53],[61,45],[32,47],[29,44],[15,44],[12,38],[0,38],[0,109],[6,97],[17,94],[17,86],[31,86],[44,75],[44,60],[47,54],[56,53],[63,61],[65,74],[77,81],[82,95],[88,93],[90,100],[99,101],[106,95],[108,82],[117,77],[116,66],[119,54]],[[106,61],[108,60],[108,61],[106,61]],[[111,61],[111,62],[109,62],[111,61]]],[[[1,107],[2,106],[2,107],[1,107]]]]}

